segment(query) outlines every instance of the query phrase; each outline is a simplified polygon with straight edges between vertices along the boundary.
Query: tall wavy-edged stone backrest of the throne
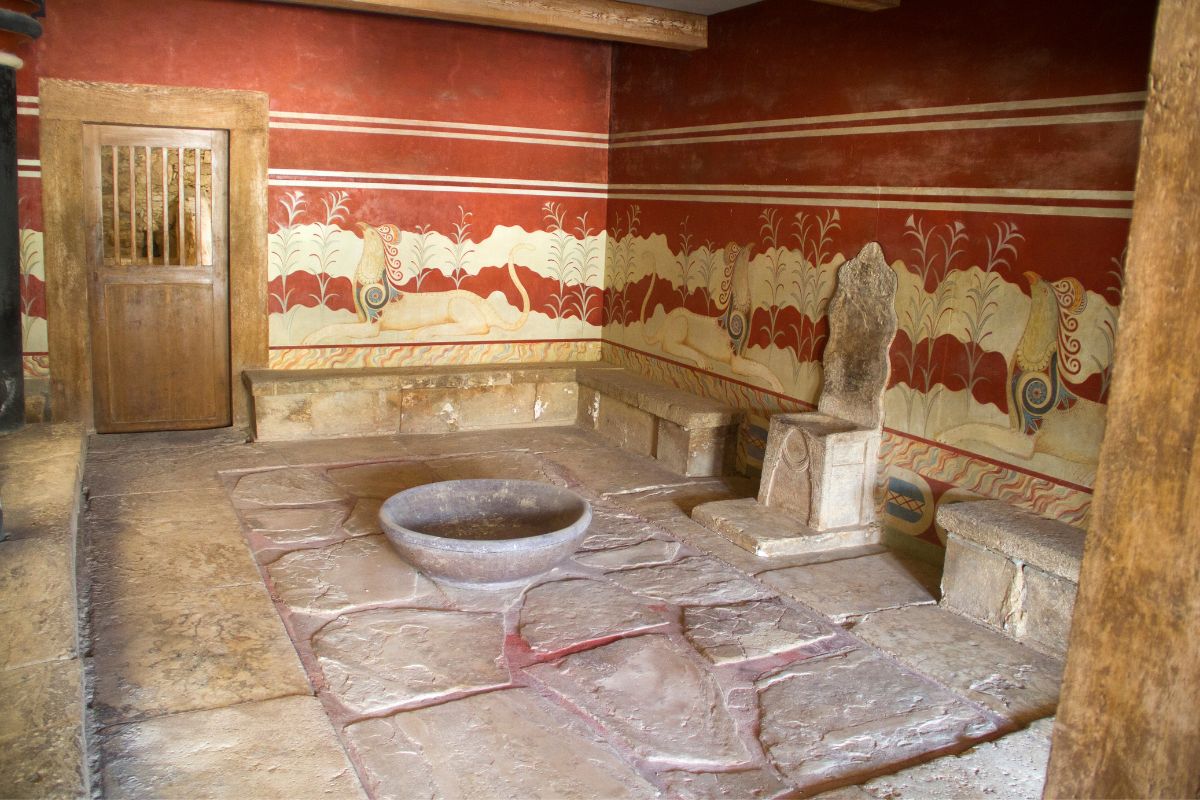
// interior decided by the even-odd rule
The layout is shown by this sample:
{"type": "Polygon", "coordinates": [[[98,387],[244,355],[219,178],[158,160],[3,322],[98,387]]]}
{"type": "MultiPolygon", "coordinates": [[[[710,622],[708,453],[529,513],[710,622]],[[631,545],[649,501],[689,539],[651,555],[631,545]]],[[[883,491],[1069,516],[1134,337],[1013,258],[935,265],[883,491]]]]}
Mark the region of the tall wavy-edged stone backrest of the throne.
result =
{"type": "Polygon", "coordinates": [[[883,425],[888,349],[896,335],[896,275],[870,242],[838,270],[817,410],[864,428],[883,425]]]}

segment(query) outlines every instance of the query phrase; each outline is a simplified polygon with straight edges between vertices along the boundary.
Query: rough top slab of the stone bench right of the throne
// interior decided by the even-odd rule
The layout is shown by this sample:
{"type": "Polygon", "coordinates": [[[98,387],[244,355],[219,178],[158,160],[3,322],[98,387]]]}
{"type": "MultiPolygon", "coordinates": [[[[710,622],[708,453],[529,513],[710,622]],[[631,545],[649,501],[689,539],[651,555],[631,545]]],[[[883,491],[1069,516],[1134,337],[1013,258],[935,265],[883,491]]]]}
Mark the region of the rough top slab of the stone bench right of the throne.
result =
{"type": "Polygon", "coordinates": [[[954,503],[937,510],[949,534],[1044,572],[1079,583],[1085,531],[1002,500],[954,503]]]}

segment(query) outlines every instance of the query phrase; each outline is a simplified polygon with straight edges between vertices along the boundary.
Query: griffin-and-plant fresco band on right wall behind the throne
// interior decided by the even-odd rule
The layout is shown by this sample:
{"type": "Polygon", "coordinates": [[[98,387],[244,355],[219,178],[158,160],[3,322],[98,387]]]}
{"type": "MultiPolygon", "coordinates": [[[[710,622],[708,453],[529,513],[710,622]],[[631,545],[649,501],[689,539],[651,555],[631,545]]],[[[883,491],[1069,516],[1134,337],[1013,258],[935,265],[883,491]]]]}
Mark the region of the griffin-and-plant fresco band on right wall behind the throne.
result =
{"type": "Polygon", "coordinates": [[[1058,241],[1031,243],[1045,223],[1018,215],[762,207],[722,219],[740,239],[720,246],[691,216],[670,236],[643,231],[646,216],[613,213],[606,357],[748,409],[744,469],[769,414],[815,407],[838,267],[877,239],[899,278],[877,494],[889,527],[940,541],[936,504],[980,495],[1086,519],[1121,300],[1123,253],[1103,248],[1127,222],[1072,221],[1103,234],[1050,264],[1058,241]]]}

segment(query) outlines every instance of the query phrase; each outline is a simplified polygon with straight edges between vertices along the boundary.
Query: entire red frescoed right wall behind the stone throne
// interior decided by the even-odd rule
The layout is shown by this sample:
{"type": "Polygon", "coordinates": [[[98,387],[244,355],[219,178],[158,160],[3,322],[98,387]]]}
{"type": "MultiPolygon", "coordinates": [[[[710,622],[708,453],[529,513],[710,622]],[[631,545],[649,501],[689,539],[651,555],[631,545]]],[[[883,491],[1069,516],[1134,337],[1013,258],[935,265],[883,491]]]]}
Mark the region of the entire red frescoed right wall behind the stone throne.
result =
{"type": "Polygon", "coordinates": [[[884,524],[1004,499],[1082,524],[1154,4],[767,0],[710,47],[619,46],[605,357],[756,415],[811,408],[838,266],[899,278],[884,524]]]}

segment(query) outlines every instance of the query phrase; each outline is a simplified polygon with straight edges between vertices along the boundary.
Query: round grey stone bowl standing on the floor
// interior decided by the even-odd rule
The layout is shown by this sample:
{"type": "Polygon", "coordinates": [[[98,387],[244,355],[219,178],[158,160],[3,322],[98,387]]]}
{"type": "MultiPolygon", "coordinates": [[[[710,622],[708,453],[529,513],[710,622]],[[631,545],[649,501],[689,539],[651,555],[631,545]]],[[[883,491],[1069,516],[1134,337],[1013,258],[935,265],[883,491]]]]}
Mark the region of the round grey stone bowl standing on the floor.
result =
{"type": "Polygon", "coordinates": [[[401,557],[455,585],[524,583],[575,552],[592,506],[538,481],[442,481],[388,498],[379,522],[401,557]]]}

